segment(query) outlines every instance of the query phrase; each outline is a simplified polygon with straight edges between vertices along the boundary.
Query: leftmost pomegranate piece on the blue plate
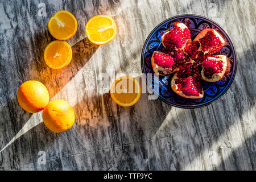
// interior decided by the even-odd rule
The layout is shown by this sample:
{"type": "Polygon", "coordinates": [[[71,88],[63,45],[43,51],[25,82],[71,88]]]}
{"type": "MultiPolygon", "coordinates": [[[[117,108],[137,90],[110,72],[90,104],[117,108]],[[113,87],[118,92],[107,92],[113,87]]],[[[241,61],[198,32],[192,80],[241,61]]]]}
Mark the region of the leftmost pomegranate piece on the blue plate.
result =
{"type": "Polygon", "coordinates": [[[177,65],[174,57],[159,51],[155,51],[151,57],[153,71],[159,75],[170,75],[175,72],[177,65]]]}

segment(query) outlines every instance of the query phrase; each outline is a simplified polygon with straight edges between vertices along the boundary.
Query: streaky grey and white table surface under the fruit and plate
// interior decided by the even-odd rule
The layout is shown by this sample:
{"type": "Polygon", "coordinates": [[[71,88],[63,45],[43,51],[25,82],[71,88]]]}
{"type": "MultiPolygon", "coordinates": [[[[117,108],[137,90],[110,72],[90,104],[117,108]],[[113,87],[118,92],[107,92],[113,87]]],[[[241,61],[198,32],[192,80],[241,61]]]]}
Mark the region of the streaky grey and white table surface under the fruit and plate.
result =
{"type": "MultiPolygon", "coordinates": [[[[255,170],[255,5],[251,1],[3,1],[0,0],[0,170],[255,170]],[[43,51],[54,40],[48,19],[76,16],[67,42],[71,64],[55,71],[43,51]],[[98,14],[117,23],[117,36],[95,46],[85,24],[98,14]],[[207,16],[230,35],[238,68],[228,92],[199,109],[179,109],[142,94],[121,107],[99,91],[99,75],[141,74],[141,51],[151,30],[180,14],[207,16]],[[68,101],[75,125],[55,134],[16,100],[19,85],[43,82],[51,99],[68,101]]],[[[111,79],[109,84],[111,84],[111,79]]]]}

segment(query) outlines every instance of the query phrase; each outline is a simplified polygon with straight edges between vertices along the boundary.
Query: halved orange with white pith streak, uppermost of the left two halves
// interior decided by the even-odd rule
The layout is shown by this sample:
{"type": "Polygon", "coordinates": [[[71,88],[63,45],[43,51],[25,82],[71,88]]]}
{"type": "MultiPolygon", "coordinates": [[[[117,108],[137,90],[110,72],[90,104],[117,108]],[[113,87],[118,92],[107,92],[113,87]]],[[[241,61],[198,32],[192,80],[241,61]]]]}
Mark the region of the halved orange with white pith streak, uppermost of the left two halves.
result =
{"type": "Polygon", "coordinates": [[[70,39],[77,31],[76,18],[68,11],[57,11],[48,21],[48,30],[55,39],[70,39]]]}

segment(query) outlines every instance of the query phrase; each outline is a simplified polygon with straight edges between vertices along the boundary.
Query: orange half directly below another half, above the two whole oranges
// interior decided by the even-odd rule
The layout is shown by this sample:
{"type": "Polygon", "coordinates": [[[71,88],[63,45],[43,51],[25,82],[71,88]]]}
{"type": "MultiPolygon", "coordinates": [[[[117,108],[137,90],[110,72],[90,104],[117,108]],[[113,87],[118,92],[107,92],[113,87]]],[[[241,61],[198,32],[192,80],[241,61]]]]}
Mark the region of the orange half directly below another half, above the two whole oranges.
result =
{"type": "Polygon", "coordinates": [[[72,48],[63,40],[54,40],[44,49],[44,61],[52,69],[67,67],[72,59],[72,48]]]}

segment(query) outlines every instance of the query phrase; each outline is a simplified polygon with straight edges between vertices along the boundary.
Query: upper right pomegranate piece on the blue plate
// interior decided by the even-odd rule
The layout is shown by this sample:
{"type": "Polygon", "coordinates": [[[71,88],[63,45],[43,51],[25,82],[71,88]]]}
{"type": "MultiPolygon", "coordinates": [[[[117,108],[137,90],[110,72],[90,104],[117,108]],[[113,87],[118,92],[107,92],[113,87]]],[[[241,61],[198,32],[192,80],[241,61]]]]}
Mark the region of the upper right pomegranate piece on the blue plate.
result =
{"type": "Polygon", "coordinates": [[[214,29],[205,29],[201,31],[193,40],[200,43],[199,51],[206,55],[213,55],[218,52],[226,42],[222,35],[214,29]]]}

